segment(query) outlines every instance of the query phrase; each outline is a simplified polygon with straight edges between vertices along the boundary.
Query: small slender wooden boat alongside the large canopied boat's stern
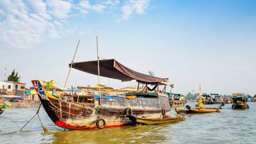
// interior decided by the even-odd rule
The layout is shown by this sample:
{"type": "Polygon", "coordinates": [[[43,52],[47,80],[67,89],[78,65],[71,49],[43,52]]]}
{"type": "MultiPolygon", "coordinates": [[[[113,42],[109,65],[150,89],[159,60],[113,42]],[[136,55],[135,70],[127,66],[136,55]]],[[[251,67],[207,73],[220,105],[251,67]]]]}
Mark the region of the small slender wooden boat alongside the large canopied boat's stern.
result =
{"type": "Polygon", "coordinates": [[[179,121],[184,121],[186,119],[185,115],[166,115],[165,117],[157,118],[139,118],[136,117],[134,120],[136,123],[141,123],[145,125],[157,125],[161,123],[177,123],[179,121]]]}

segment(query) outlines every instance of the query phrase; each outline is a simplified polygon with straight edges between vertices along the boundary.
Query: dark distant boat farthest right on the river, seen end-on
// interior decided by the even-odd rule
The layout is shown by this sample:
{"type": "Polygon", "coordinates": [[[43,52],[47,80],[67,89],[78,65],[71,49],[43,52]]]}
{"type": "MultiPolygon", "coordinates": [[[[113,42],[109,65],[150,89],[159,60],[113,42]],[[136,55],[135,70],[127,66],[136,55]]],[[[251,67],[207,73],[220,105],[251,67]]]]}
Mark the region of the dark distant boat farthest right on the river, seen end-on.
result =
{"type": "Polygon", "coordinates": [[[243,93],[233,93],[231,98],[233,100],[232,109],[249,109],[243,93]]]}

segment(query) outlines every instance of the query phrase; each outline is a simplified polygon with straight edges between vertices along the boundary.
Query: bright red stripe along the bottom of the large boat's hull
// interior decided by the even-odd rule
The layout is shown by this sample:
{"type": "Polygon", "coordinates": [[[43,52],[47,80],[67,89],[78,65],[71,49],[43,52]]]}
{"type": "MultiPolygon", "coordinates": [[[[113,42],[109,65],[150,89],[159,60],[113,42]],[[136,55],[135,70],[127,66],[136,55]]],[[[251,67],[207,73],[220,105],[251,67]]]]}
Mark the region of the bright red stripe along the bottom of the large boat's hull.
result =
{"type": "MultiPolygon", "coordinates": [[[[72,129],[72,130],[83,130],[83,129],[96,129],[96,126],[93,127],[77,127],[75,125],[69,125],[65,123],[64,121],[55,121],[55,124],[59,127],[62,127],[63,129],[72,129]]],[[[117,124],[117,125],[106,125],[105,128],[110,128],[110,127],[121,127],[127,125],[125,123],[117,124]]]]}

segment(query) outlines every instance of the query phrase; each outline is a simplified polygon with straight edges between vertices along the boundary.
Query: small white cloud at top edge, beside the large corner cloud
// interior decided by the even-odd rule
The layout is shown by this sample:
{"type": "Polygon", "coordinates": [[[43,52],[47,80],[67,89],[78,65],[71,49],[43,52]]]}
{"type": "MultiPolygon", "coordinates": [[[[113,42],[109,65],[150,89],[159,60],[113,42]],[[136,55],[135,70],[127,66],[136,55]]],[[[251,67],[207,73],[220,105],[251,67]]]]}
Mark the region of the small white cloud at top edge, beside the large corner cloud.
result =
{"type": "Polygon", "coordinates": [[[72,4],[69,1],[50,0],[47,4],[51,8],[50,13],[58,19],[65,19],[68,17],[72,4]]]}

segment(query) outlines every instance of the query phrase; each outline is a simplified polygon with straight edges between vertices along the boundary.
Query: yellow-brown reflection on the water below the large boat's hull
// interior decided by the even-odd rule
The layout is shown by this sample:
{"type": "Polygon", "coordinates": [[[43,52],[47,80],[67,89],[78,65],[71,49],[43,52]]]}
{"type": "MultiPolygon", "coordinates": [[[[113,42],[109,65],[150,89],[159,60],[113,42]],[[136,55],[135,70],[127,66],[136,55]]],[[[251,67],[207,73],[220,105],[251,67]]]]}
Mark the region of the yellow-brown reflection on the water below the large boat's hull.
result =
{"type": "Polygon", "coordinates": [[[158,126],[125,126],[93,131],[63,131],[53,135],[53,143],[161,143],[167,141],[158,126]]]}

